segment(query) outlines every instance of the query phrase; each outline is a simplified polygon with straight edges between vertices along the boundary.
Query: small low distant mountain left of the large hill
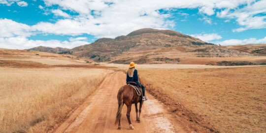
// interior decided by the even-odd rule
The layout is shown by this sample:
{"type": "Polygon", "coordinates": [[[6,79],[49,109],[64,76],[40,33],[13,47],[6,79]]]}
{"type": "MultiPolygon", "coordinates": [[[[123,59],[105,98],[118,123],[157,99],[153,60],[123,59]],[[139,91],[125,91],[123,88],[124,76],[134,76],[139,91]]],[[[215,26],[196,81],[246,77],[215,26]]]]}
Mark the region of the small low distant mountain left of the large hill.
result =
{"type": "Polygon", "coordinates": [[[38,47],[34,47],[31,49],[27,49],[27,50],[48,52],[48,53],[64,53],[64,52],[67,53],[67,51],[69,51],[69,49],[67,48],[61,48],[61,47],[51,48],[51,47],[44,47],[44,46],[38,46],[38,47]]]}

